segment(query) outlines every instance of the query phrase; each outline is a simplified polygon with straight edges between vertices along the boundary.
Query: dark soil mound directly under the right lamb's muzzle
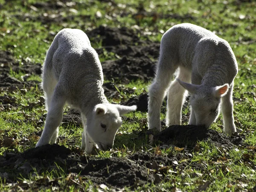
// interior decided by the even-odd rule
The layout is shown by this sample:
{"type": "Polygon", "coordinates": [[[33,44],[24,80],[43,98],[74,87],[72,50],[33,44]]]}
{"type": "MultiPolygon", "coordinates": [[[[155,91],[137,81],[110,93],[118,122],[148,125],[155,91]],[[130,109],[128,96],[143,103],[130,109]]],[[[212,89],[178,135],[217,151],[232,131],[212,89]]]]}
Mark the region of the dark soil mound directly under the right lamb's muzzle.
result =
{"type": "MultiPolygon", "coordinates": [[[[135,135],[133,137],[136,138],[135,135]]],[[[243,137],[243,135],[237,133],[227,137],[218,131],[197,125],[172,125],[160,132],[155,130],[140,131],[135,144],[149,145],[151,143],[152,147],[156,145],[175,145],[180,148],[192,149],[199,141],[206,141],[217,147],[229,148],[234,145],[245,145],[243,137]]]]}

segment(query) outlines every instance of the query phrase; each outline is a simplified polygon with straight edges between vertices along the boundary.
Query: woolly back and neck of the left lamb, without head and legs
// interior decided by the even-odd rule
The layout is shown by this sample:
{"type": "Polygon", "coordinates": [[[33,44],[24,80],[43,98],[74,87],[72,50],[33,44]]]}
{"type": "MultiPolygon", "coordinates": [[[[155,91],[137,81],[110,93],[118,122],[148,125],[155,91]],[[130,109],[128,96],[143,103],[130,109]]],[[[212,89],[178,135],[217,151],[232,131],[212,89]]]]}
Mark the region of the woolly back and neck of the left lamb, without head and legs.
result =
{"type": "Polygon", "coordinates": [[[63,29],[55,39],[58,48],[52,67],[68,103],[80,108],[86,103],[107,102],[102,89],[102,66],[87,35],[79,29],[63,29]]]}

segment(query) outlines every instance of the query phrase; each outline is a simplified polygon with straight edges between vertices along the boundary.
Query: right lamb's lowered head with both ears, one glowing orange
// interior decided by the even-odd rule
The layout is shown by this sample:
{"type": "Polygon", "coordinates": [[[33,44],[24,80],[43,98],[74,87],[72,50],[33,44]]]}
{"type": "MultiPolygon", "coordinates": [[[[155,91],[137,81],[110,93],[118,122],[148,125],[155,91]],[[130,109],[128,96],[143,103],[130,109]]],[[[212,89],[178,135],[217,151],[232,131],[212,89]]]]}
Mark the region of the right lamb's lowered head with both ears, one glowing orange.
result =
{"type": "Polygon", "coordinates": [[[195,118],[190,119],[190,124],[202,125],[206,128],[217,119],[220,113],[221,97],[227,94],[229,84],[216,87],[205,87],[177,81],[191,94],[190,105],[195,118]]]}

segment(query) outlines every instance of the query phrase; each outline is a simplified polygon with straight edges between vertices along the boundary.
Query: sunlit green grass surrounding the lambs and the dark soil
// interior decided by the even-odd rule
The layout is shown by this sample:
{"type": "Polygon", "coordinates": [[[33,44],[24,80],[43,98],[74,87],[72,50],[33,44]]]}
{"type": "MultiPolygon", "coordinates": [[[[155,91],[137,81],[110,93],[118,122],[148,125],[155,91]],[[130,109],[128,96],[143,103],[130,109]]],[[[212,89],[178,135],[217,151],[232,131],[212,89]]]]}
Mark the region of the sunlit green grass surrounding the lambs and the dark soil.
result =
{"type": "MultiPolygon", "coordinates": [[[[218,0],[130,0],[127,2],[116,0],[115,3],[111,3],[111,1],[74,0],[69,2],[70,4],[64,1],[65,7],[55,7],[54,3],[50,4],[50,2],[47,0],[0,0],[0,50],[10,51],[20,64],[24,61],[35,64],[43,63],[46,51],[59,30],[69,27],[87,31],[100,25],[139,28],[140,38],[148,34],[151,41],[160,41],[163,32],[174,24],[191,22],[227,40],[239,63],[239,73],[235,79],[233,93],[235,124],[244,134],[244,142],[251,148],[241,146],[226,149],[215,147],[211,143],[200,142],[198,151],[190,152],[191,156],[188,156],[188,159],[181,159],[177,163],[188,160],[191,161],[191,165],[201,163],[205,167],[204,170],[198,171],[192,166],[188,166],[185,170],[172,167],[162,183],[158,185],[148,183],[135,191],[174,189],[198,191],[204,189],[203,187],[206,191],[253,191],[256,183],[256,156],[255,148],[253,148],[256,145],[255,2],[245,3],[235,0],[224,2],[218,0]],[[38,2],[48,2],[50,6],[52,5],[52,9],[47,6],[36,8],[34,5],[38,2]],[[60,20],[55,21],[56,17],[60,20]]],[[[102,42],[96,42],[93,39],[91,41],[93,47],[102,47],[102,42]]],[[[99,57],[101,62],[117,59],[114,53],[107,51],[103,51],[99,57]]],[[[11,69],[9,75],[22,81],[25,73],[14,72],[11,69]]],[[[32,75],[27,79],[27,81],[30,80],[41,81],[41,78],[32,75]]],[[[136,87],[134,95],[139,95],[148,90],[148,84],[149,82],[133,81],[125,84],[124,89],[136,87]]],[[[122,89],[117,88],[117,90],[125,99],[133,96],[126,94],[122,89]]],[[[6,152],[23,152],[35,146],[38,140],[37,133],[42,130],[43,126],[40,119],[46,112],[42,105],[42,95],[39,86],[0,93],[0,96],[14,98],[16,104],[16,107],[10,107],[9,110],[0,110],[0,140],[2,143],[0,155],[6,152]],[[3,145],[3,142],[7,141],[5,138],[9,139],[11,145],[3,145]]],[[[186,108],[183,114],[188,112],[189,108],[186,108]]],[[[96,157],[121,158],[136,151],[153,151],[151,149],[156,147],[148,144],[148,138],[137,139],[137,132],[145,127],[143,119],[146,119],[146,113],[135,112],[126,116],[137,119],[137,122],[124,122],[117,133],[114,152],[100,151],[96,157]]],[[[161,114],[161,119],[164,118],[165,115],[161,114]]],[[[221,132],[223,125],[221,119],[222,117],[219,117],[211,128],[221,132]]],[[[67,148],[79,146],[82,128],[69,126],[71,126],[69,130],[72,131],[60,127],[59,144],[67,148]]],[[[185,154],[184,151],[175,151],[173,147],[162,149],[162,153],[185,154]]],[[[51,172],[44,172],[42,175],[38,175],[36,170],[34,170],[34,175],[29,177],[20,175],[17,183],[6,182],[0,175],[0,182],[0,191],[18,189],[20,183],[28,191],[34,189],[52,191],[53,182],[58,182],[61,186],[56,190],[62,188],[67,191],[76,191],[83,188],[84,191],[98,191],[97,188],[99,188],[79,175],[69,175],[57,164],[51,172]],[[41,184],[44,182],[49,186],[41,184]],[[37,188],[38,186],[40,187],[37,188]]]]}

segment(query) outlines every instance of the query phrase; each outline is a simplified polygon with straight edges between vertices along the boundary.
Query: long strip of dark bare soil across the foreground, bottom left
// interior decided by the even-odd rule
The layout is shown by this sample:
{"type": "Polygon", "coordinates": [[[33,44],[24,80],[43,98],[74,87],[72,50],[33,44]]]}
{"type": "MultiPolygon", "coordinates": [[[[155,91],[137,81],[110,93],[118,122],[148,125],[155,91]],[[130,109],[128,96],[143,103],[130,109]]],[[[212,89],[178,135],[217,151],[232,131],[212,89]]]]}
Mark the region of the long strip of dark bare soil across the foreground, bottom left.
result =
{"type": "MultiPolygon", "coordinates": [[[[57,169],[57,164],[66,173],[79,174],[84,180],[91,180],[94,184],[134,188],[145,183],[159,183],[170,167],[174,170],[184,169],[187,163],[177,163],[184,157],[188,157],[188,154],[172,157],[137,152],[123,158],[99,159],[81,155],[77,149],[70,150],[56,144],[44,145],[30,148],[23,153],[6,153],[0,157],[0,176],[4,175],[7,182],[13,182],[21,173],[26,178],[30,173],[33,174],[34,170],[41,174],[57,169]]],[[[194,168],[202,169],[196,164],[194,168]]]]}

